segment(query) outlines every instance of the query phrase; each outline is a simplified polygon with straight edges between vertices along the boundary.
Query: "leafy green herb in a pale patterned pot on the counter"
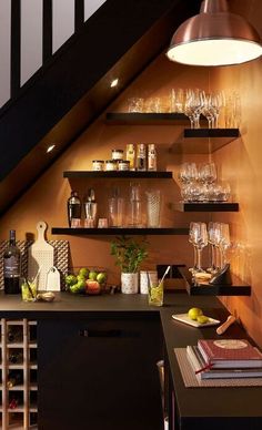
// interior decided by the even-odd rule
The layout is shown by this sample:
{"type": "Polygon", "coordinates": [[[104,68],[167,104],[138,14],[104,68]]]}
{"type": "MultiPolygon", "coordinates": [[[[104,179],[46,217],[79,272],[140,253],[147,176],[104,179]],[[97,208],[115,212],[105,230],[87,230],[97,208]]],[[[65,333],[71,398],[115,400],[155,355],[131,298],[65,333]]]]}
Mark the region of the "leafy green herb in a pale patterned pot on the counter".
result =
{"type": "Polygon", "coordinates": [[[139,290],[139,267],[147,258],[147,242],[138,242],[127,236],[117,237],[111,243],[111,255],[117,259],[115,265],[121,268],[121,291],[135,294],[139,290]]]}

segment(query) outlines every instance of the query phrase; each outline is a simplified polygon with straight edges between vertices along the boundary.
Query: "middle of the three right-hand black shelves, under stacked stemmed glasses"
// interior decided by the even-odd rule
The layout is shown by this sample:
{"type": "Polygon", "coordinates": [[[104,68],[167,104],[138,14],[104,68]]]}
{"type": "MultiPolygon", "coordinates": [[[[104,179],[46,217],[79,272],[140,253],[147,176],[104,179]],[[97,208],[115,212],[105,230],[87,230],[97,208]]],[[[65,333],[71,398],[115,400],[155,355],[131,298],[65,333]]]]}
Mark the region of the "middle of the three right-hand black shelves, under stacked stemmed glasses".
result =
{"type": "Polygon", "coordinates": [[[239,203],[230,202],[177,202],[171,206],[178,212],[239,212],[239,203]]]}

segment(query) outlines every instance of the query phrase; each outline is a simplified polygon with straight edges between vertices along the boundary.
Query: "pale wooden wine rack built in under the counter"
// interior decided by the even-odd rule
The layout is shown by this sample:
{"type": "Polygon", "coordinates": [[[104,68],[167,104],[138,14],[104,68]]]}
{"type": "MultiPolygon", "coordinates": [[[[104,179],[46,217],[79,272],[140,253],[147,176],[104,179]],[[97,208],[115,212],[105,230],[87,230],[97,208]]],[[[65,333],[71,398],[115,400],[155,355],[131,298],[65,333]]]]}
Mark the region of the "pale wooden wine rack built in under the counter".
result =
{"type": "Polygon", "coordinates": [[[0,329],[0,428],[37,429],[37,321],[2,318],[0,329]]]}

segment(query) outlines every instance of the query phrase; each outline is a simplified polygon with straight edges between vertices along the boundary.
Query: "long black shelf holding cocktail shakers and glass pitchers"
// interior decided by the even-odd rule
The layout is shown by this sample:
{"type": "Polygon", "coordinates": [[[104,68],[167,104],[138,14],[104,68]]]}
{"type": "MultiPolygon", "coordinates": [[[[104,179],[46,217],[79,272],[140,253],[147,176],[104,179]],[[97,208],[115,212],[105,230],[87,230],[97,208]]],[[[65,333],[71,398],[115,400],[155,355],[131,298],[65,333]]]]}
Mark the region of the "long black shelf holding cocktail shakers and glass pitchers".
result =
{"type": "Polygon", "coordinates": [[[189,228],[70,228],[70,227],[53,227],[53,235],[71,235],[71,236],[144,236],[144,235],[188,235],[189,228]]]}

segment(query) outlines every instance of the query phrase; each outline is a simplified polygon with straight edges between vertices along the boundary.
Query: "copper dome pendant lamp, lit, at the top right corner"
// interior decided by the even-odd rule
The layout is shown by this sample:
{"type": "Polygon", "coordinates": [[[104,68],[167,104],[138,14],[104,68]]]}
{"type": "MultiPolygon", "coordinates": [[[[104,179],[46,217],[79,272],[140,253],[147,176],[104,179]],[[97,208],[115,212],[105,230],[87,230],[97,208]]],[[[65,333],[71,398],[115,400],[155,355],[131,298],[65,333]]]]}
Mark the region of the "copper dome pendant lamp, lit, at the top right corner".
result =
{"type": "Polygon", "coordinates": [[[200,13],[178,28],[167,52],[171,61],[209,66],[240,64],[261,54],[259,33],[229,11],[226,0],[203,0],[200,13]]]}

